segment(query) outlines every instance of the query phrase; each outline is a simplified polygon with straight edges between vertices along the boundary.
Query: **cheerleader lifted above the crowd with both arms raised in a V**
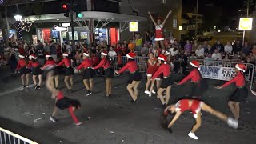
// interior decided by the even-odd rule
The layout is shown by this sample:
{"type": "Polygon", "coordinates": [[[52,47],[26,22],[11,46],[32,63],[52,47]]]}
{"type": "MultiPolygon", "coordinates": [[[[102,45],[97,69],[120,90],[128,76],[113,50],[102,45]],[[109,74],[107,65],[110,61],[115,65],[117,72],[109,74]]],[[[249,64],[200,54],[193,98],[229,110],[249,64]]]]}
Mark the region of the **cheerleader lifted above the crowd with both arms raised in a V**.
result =
{"type": "Polygon", "coordinates": [[[164,36],[163,36],[163,26],[165,26],[166,24],[166,20],[169,18],[170,14],[171,14],[171,10],[169,11],[169,13],[166,15],[166,19],[161,23],[162,18],[158,18],[158,21],[155,22],[154,18],[152,17],[152,14],[150,14],[150,12],[148,12],[150,14],[150,18],[151,21],[154,23],[155,26],[155,38],[154,41],[156,43],[156,47],[159,47],[159,42],[161,45],[161,48],[164,49],[165,45],[164,45],[164,36]]]}

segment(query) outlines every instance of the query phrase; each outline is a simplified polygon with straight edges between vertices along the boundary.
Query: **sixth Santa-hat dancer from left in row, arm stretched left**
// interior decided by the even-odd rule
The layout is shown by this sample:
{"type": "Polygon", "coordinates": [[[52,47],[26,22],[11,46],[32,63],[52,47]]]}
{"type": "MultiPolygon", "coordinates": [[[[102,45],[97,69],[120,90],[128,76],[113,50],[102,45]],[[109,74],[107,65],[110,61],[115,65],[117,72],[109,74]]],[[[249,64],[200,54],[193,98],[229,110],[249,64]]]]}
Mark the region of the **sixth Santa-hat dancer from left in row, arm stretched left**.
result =
{"type": "Polygon", "coordinates": [[[110,58],[107,56],[107,52],[103,51],[101,55],[101,62],[93,69],[97,70],[101,67],[104,69],[104,77],[106,82],[106,98],[110,98],[112,94],[112,78],[114,78],[114,69],[112,68],[112,66],[110,66],[110,58]]]}

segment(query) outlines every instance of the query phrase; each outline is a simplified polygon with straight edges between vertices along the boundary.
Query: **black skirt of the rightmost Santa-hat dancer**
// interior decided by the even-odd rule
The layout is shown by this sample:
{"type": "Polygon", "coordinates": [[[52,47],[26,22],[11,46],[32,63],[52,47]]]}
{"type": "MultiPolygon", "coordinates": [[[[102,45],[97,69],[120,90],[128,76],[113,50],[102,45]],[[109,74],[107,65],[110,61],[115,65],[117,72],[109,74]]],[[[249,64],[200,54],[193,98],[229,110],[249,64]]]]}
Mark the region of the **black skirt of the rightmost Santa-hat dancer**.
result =
{"type": "Polygon", "coordinates": [[[234,93],[230,97],[230,101],[233,102],[246,102],[246,98],[248,98],[248,89],[246,86],[242,88],[237,88],[234,90],[234,93]]]}

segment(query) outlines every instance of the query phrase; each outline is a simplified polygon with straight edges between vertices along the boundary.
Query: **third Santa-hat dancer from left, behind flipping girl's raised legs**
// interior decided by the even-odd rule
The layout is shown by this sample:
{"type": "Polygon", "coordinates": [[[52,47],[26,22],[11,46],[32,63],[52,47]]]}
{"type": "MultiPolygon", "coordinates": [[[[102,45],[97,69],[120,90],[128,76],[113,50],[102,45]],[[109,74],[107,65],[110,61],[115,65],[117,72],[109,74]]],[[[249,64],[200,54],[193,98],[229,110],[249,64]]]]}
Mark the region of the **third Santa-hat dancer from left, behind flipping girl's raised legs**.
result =
{"type": "MultiPolygon", "coordinates": [[[[46,54],[46,63],[42,67],[42,70],[44,70],[47,66],[55,66],[57,63],[54,61],[54,58],[51,56],[51,54],[46,54]]],[[[54,86],[54,89],[58,90],[58,67],[54,67],[54,72],[51,79],[51,85],[54,86]]]]}

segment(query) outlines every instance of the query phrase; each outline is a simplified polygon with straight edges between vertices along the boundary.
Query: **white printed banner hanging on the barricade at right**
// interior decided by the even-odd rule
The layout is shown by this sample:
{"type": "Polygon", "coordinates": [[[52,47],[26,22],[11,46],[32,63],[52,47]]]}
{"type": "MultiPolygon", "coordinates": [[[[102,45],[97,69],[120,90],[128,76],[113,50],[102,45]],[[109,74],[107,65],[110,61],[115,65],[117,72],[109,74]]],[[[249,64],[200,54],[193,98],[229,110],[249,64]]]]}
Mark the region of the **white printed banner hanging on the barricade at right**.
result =
{"type": "Polygon", "coordinates": [[[234,78],[236,72],[232,67],[220,67],[220,66],[200,66],[200,72],[203,78],[218,79],[223,81],[229,81],[234,78]]]}

